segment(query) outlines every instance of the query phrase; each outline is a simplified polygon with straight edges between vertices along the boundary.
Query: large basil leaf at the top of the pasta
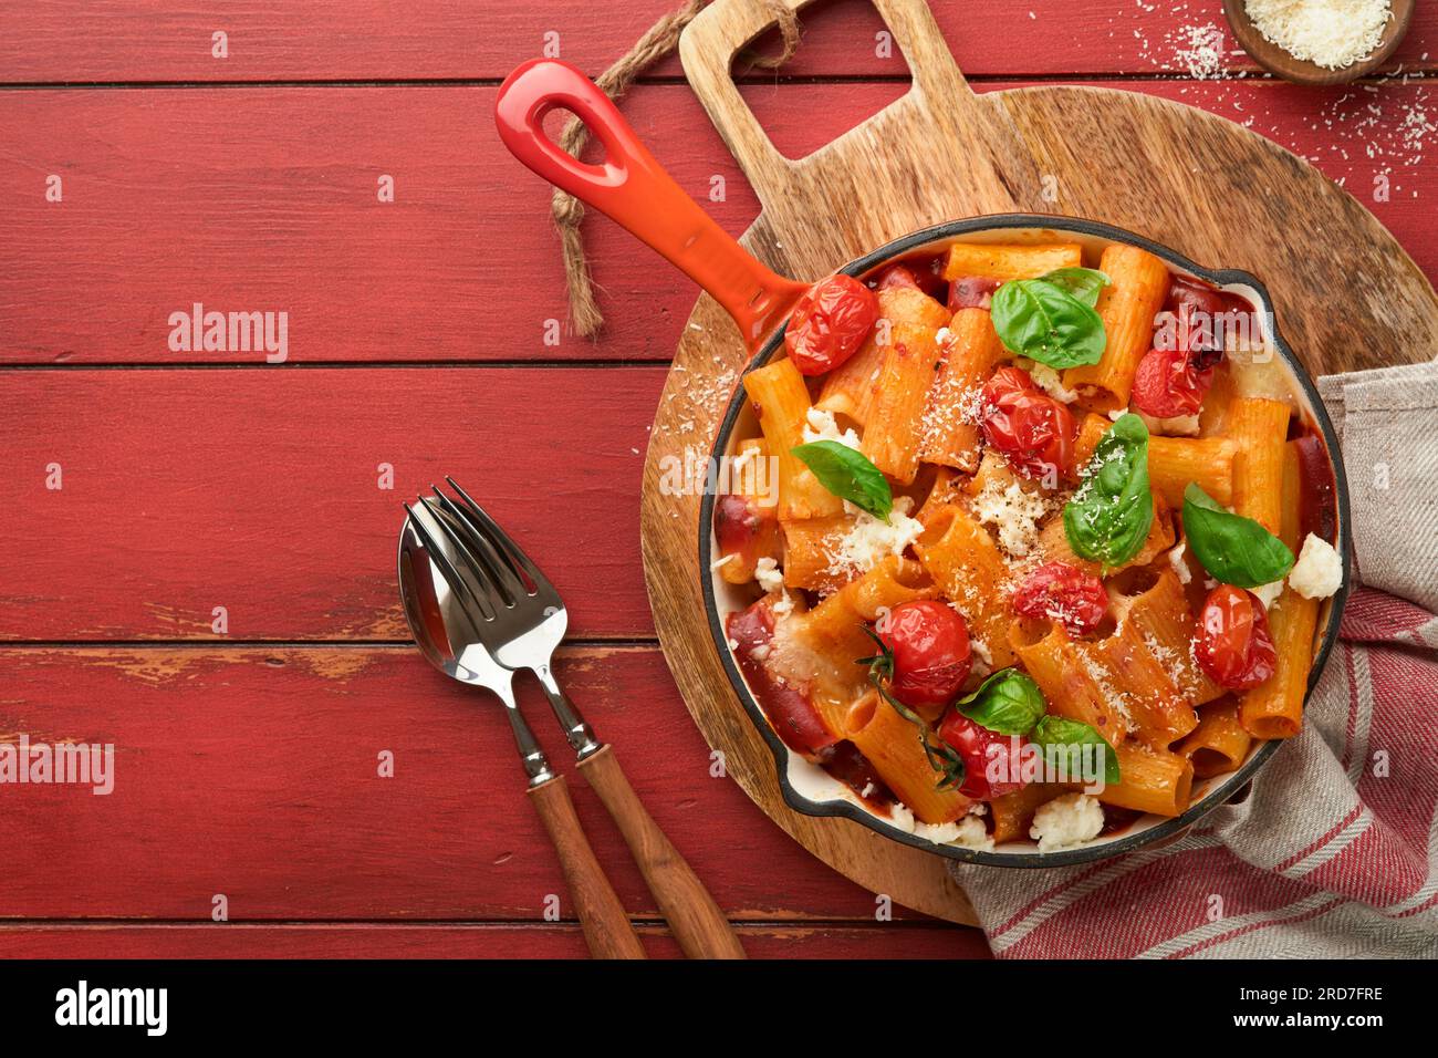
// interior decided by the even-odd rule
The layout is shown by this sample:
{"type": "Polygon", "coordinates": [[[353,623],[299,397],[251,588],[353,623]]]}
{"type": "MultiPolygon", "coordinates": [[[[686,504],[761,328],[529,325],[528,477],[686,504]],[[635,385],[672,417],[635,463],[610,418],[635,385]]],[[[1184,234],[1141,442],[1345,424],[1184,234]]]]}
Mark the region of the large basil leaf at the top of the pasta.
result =
{"type": "Polygon", "coordinates": [[[1048,367],[1097,364],[1107,341],[1103,320],[1047,279],[1014,279],[994,292],[994,330],[1011,353],[1048,367]]]}

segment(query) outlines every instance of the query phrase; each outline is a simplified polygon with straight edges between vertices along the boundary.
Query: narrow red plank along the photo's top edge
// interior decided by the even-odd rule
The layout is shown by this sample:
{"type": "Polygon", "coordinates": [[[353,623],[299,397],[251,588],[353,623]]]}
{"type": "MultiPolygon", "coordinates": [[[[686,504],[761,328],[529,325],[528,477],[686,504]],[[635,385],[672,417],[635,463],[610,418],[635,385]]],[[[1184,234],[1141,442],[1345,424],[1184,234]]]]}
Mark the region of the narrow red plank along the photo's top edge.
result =
{"type": "MultiPolygon", "coordinates": [[[[63,0],[0,9],[0,71],[12,82],[309,81],[502,78],[557,43],[594,73],[628,50],[677,0],[585,4],[532,0],[311,0],[236,9],[198,0],[183,9],[122,0],[63,0]],[[229,56],[213,56],[213,33],[229,56]],[[555,33],[557,37],[546,37],[555,33]]],[[[961,66],[975,75],[1152,73],[1182,71],[1189,35],[1227,29],[1219,0],[932,0],[961,66]]],[[[791,76],[896,76],[883,53],[883,22],[866,0],[834,0],[804,13],[805,43],[791,76]]],[[[1438,10],[1419,4],[1398,60],[1438,52],[1438,10]]],[[[1237,48],[1225,36],[1229,49],[1237,48]]],[[[1231,56],[1235,68],[1252,68],[1231,56]]],[[[1431,59],[1428,60],[1431,62],[1431,59]]],[[[669,60],[660,75],[680,73],[669,60]]],[[[764,76],[764,75],[759,75],[764,76]]]]}

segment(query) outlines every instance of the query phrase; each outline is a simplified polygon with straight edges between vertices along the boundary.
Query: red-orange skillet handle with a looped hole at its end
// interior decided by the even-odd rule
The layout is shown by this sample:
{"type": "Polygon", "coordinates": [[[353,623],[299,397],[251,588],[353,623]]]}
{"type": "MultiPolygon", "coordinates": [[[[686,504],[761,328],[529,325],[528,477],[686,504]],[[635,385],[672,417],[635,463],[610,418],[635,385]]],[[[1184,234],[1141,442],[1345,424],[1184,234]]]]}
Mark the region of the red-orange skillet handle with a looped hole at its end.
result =
{"type": "Polygon", "coordinates": [[[499,88],[495,121],[505,147],[535,173],[649,243],[703,286],[755,350],[788,315],[805,284],[785,279],[731,239],[666,173],[604,92],[574,66],[532,59],[499,88]],[[604,145],[597,166],[549,140],[545,115],[572,111],[604,145]]]}

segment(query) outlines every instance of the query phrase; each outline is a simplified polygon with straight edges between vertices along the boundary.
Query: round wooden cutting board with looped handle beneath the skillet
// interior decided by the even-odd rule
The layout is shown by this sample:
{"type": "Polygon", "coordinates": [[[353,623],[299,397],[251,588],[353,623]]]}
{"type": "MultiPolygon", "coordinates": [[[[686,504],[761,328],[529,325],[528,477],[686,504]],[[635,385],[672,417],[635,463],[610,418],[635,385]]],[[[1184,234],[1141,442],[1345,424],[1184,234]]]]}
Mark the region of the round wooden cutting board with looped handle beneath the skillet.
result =
{"type": "MultiPolygon", "coordinates": [[[[1316,376],[1438,351],[1438,298],[1428,279],[1368,210],[1301,158],[1231,121],[1133,92],[975,95],[923,0],[874,6],[913,88],[800,161],[774,148],[729,76],[735,53],[771,24],[765,4],[716,0],[680,42],[689,83],[764,207],[742,242],[775,271],[814,279],[928,225],[1055,213],[1119,225],[1201,265],[1248,269],[1316,376]]],[[[674,354],[644,466],[644,574],[669,666],[728,774],[800,844],[876,894],[972,923],[940,856],[784,803],[774,759],[720,668],[699,594],[699,497],[666,495],[659,481],[670,461],[707,456],[746,361],[738,330],[702,297],[674,354]]]]}

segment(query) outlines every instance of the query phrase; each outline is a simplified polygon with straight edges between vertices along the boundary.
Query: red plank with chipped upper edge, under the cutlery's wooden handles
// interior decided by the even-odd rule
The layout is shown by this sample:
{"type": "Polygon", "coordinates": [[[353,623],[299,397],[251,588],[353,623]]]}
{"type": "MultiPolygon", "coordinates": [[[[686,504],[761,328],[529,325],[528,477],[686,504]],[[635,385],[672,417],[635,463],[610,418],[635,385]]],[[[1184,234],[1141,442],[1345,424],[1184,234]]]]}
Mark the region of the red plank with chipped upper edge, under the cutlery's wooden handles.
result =
{"type": "MultiPolygon", "coordinates": [[[[408,648],[0,651],[0,738],[114,744],[114,792],[4,785],[23,918],[572,918],[498,702],[408,648]],[[378,777],[380,753],[394,777],[378,777]]],[[[735,918],[874,921],[713,761],[656,648],[568,649],[572,698],[735,918]]],[[[533,681],[521,701],[631,914],[654,903],[533,681]]]]}

